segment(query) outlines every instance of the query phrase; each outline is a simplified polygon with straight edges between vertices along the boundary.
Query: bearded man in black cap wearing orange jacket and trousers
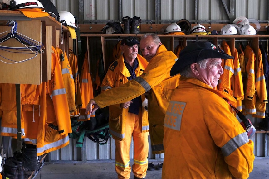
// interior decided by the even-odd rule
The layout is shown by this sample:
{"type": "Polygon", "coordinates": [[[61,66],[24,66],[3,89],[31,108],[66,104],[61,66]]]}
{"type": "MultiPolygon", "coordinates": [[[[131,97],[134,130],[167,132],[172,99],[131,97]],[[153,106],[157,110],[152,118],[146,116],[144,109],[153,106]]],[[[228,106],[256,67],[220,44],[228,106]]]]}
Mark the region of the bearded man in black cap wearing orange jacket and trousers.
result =
{"type": "MultiPolygon", "coordinates": [[[[138,54],[136,37],[121,40],[122,55],[114,61],[102,82],[101,92],[119,87],[140,76],[148,62],[138,54]]],[[[109,106],[109,131],[115,139],[115,170],[120,179],[130,178],[130,144],[134,140],[134,178],[145,178],[148,168],[149,121],[148,112],[142,107],[145,96],[109,106]]]]}

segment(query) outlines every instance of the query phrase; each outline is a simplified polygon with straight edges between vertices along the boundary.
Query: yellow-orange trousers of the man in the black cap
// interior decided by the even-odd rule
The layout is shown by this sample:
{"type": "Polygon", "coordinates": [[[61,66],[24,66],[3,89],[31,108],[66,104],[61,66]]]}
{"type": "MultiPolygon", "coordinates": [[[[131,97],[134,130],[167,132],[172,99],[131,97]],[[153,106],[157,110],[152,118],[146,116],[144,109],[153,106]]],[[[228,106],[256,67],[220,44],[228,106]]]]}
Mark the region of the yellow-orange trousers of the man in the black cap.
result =
{"type": "Polygon", "coordinates": [[[135,115],[128,113],[125,122],[125,138],[123,141],[115,140],[115,170],[120,179],[130,178],[130,144],[134,141],[134,165],[133,173],[137,178],[146,177],[148,169],[149,132],[142,133],[142,113],[135,115]]]}

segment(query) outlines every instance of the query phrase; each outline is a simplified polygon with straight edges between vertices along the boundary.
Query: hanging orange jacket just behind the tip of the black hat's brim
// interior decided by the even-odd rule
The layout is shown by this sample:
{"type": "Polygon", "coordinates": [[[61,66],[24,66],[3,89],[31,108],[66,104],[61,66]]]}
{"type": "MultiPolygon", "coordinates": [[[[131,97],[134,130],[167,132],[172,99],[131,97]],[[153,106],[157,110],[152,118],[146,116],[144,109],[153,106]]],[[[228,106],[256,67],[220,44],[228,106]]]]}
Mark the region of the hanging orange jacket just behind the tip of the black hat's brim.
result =
{"type": "MultiPolygon", "coordinates": [[[[221,49],[228,54],[231,55],[230,47],[225,40],[222,42],[221,49]]],[[[218,81],[218,90],[224,91],[233,95],[232,87],[232,75],[234,74],[234,66],[233,59],[222,59],[222,68],[223,74],[220,76],[218,81]]]]}

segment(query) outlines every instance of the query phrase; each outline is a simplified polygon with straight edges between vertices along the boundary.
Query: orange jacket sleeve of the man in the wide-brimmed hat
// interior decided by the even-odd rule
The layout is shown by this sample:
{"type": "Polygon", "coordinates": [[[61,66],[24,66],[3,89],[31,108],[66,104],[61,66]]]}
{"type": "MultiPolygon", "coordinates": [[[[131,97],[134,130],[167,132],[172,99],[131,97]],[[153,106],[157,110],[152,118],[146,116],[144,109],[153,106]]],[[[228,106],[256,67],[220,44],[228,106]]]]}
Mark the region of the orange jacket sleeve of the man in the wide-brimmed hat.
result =
{"type": "Polygon", "coordinates": [[[253,169],[254,144],[226,103],[224,100],[221,103],[211,101],[204,110],[205,122],[215,144],[221,148],[231,174],[235,178],[247,179],[253,169]]]}

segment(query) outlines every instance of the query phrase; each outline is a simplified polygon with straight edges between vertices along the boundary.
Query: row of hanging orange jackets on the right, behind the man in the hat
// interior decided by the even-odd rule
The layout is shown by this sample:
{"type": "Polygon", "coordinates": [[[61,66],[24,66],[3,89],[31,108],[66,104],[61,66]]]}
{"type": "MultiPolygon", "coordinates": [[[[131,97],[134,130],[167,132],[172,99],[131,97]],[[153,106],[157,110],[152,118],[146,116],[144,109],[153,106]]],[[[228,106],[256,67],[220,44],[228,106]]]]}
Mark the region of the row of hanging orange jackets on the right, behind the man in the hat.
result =
{"type": "MultiPolygon", "coordinates": [[[[219,47],[231,55],[230,47],[225,40],[219,47]]],[[[179,44],[174,54],[179,57],[182,49],[183,45],[179,44]]],[[[264,118],[268,102],[268,61],[262,46],[259,46],[256,58],[249,45],[244,51],[239,45],[239,52],[234,49],[234,59],[222,59],[222,67],[223,74],[216,89],[232,95],[237,100],[237,109],[244,115],[251,114],[252,117],[264,118]]]]}

